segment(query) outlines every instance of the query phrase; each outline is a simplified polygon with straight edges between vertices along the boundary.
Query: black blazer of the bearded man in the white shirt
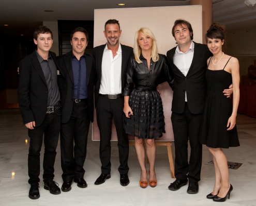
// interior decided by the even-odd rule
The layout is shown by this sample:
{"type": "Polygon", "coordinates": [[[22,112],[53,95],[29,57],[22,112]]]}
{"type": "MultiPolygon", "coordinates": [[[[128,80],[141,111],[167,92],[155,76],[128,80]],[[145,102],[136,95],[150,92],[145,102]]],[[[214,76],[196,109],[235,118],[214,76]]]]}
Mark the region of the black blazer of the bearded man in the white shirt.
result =
{"type": "MultiPolygon", "coordinates": [[[[96,62],[96,82],[95,82],[95,90],[94,90],[95,107],[97,106],[97,102],[99,98],[99,89],[100,89],[100,83],[101,83],[101,64],[102,64],[103,50],[105,46],[106,44],[103,44],[93,49],[93,56],[96,62]]],[[[122,78],[122,93],[123,93],[125,88],[125,82],[126,82],[127,64],[130,57],[133,55],[133,48],[130,46],[122,45],[122,44],[121,44],[121,48],[122,48],[121,78],[122,78]]]]}

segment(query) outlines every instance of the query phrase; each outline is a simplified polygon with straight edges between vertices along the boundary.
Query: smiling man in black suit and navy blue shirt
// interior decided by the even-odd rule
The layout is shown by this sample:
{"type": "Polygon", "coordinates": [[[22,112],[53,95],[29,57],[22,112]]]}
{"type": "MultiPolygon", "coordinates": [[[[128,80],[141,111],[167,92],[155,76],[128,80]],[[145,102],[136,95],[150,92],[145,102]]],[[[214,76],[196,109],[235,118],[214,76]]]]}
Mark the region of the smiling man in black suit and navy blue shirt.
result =
{"type": "Polygon", "coordinates": [[[72,50],[57,57],[61,93],[61,155],[62,191],[71,190],[72,181],[79,187],[86,187],[83,168],[86,158],[87,136],[90,122],[93,122],[94,100],[94,58],[84,51],[88,44],[88,32],[77,27],[70,35],[72,50]],[[74,146],[73,146],[74,142],[74,146]]]}

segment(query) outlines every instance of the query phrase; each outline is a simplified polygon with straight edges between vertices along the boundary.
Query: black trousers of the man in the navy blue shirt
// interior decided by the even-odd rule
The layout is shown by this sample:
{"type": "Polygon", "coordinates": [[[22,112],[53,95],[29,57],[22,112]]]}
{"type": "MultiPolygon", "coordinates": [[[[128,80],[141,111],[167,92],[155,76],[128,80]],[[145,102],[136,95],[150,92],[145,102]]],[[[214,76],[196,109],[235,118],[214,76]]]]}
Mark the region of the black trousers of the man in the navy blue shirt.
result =
{"type": "Polygon", "coordinates": [[[82,179],[90,126],[88,101],[73,102],[72,114],[61,127],[62,179],[82,179]]]}

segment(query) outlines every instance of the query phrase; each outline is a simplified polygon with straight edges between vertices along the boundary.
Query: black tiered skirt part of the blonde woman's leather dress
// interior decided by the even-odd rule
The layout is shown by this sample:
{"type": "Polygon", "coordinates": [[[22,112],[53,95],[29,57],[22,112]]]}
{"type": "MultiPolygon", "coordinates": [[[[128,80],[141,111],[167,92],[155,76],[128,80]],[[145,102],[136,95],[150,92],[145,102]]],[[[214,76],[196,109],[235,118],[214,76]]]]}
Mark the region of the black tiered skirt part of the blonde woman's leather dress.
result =
{"type": "Polygon", "coordinates": [[[133,115],[124,115],[123,128],[139,139],[161,138],[164,130],[162,100],[156,90],[138,90],[130,93],[129,106],[133,115]]]}

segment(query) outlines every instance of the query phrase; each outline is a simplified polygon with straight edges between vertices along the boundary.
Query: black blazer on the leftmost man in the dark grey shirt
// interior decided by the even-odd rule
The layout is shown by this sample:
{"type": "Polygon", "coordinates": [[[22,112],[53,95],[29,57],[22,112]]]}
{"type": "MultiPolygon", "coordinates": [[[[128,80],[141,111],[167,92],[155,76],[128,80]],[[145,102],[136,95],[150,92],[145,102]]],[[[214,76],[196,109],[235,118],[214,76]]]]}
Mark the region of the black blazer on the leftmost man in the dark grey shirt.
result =
{"type": "MultiPolygon", "coordinates": [[[[50,54],[56,64],[55,53],[50,54]]],[[[35,121],[40,126],[47,112],[48,87],[36,51],[20,61],[19,73],[18,100],[23,124],[35,121]]]]}

